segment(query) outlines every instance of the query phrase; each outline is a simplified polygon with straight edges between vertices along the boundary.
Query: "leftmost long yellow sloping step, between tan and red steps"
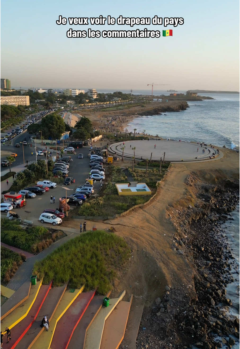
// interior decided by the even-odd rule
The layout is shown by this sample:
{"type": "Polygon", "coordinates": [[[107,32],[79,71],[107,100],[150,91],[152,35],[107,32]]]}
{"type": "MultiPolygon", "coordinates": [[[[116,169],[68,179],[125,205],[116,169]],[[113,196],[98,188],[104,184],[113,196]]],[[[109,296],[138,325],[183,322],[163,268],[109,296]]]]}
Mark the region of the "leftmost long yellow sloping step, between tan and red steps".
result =
{"type": "Polygon", "coordinates": [[[24,319],[28,315],[33,303],[36,300],[36,297],[38,295],[41,285],[42,285],[42,280],[37,281],[36,285],[31,285],[28,299],[26,299],[25,302],[23,302],[20,306],[18,306],[14,311],[8,314],[1,321],[2,328],[8,327],[11,329],[14,326],[16,326],[18,322],[20,322],[22,319],[24,319]]]}

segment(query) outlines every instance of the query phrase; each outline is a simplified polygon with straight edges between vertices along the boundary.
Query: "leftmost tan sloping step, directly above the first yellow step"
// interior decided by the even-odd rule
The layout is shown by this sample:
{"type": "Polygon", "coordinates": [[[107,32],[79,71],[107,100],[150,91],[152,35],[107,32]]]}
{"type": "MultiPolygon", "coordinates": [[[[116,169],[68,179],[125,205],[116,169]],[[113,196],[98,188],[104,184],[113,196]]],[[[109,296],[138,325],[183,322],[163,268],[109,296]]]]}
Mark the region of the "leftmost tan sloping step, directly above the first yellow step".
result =
{"type": "Polygon", "coordinates": [[[28,299],[30,288],[31,281],[25,281],[24,284],[22,284],[22,286],[20,286],[20,288],[14,292],[12,297],[1,306],[1,320],[16,309],[16,307],[22,304],[26,299],[28,299]]]}

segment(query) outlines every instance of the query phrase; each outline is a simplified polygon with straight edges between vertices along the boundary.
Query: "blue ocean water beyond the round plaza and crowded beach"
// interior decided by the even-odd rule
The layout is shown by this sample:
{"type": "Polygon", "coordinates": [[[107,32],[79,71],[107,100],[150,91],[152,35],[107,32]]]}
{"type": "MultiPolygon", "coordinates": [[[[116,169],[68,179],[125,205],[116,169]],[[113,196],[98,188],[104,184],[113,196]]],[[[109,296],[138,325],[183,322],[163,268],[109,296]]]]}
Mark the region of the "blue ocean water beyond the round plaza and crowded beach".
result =
{"type": "Polygon", "coordinates": [[[158,134],[162,138],[204,141],[219,147],[239,146],[239,94],[206,94],[215,99],[188,102],[180,112],[142,116],[132,120],[128,132],[158,134]],[[131,125],[131,127],[130,127],[131,125]]]}

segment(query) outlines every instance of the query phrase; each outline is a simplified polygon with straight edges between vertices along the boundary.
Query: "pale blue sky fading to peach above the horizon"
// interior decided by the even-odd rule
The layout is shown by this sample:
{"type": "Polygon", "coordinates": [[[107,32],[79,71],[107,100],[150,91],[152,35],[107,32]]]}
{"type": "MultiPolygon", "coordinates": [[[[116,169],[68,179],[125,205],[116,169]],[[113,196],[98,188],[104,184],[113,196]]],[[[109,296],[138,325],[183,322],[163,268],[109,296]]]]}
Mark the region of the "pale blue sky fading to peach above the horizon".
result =
{"type": "MultiPolygon", "coordinates": [[[[90,21],[89,21],[90,22],[90,21]]],[[[13,87],[239,91],[239,2],[1,1],[1,77],[13,87]],[[184,24],[57,25],[63,17],[183,17],[184,24]],[[73,30],[160,30],[160,38],[67,38],[73,30]],[[163,37],[172,29],[172,37],[163,37]],[[164,87],[159,86],[159,89],[164,87]]]]}

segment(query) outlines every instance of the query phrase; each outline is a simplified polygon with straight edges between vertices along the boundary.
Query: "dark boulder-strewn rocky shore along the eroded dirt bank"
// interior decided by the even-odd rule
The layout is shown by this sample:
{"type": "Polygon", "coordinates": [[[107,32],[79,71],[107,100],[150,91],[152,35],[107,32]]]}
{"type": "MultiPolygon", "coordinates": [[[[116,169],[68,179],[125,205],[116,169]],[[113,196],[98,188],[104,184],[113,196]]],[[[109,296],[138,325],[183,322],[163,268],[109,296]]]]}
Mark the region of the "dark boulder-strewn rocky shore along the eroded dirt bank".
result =
{"type": "Polygon", "coordinates": [[[137,349],[232,348],[239,342],[239,319],[228,316],[232,302],[225,297],[238,267],[221,229],[239,202],[239,182],[204,184],[193,173],[186,184],[197,199],[169,208],[168,215],[177,230],[172,248],[192,265],[194,289],[192,275],[187,289],[165,286],[162,299],[143,311],[137,349]]]}

